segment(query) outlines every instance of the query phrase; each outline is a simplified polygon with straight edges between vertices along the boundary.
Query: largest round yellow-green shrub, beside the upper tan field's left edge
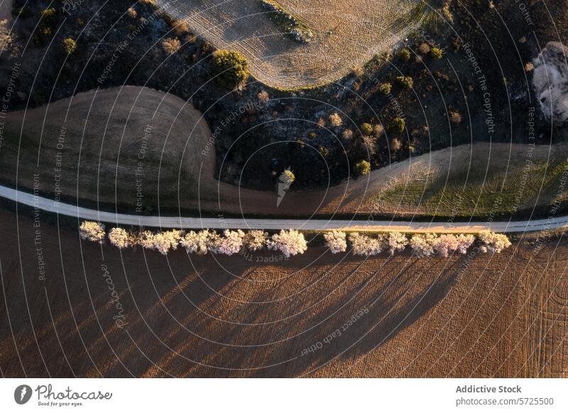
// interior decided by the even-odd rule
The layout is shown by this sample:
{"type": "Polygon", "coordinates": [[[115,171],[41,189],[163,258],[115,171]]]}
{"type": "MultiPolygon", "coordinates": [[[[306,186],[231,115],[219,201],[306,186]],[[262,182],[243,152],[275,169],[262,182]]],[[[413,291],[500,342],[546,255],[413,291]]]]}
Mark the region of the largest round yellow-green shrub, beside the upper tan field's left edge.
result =
{"type": "Polygon", "coordinates": [[[213,53],[209,70],[215,81],[227,89],[234,89],[249,78],[249,61],[233,50],[213,53]]]}

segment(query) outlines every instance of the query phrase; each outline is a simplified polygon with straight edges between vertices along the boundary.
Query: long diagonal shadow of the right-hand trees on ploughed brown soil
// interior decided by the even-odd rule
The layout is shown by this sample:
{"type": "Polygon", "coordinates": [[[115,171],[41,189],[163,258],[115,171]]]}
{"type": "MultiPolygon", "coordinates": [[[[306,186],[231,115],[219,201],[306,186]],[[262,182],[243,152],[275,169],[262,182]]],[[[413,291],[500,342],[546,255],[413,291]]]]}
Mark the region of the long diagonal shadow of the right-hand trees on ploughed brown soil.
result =
{"type": "MultiPolygon", "coordinates": [[[[371,291],[362,293],[356,304],[335,313],[332,323],[317,329],[312,342],[303,343],[301,356],[287,375],[312,375],[338,357],[357,360],[384,346],[446,297],[458,280],[462,262],[457,259],[444,268],[440,260],[424,266],[424,260],[414,258],[401,268],[393,265],[392,271],[386,271],[391,272],[391,278],[378,289],[373,288],[373,275],[366,285],[371,291]],[[307,350],[310,346],[311,350],[307,350]]],[[[334,309],[329,307],[321,310],[328,316],[332,312],[334,309]]]]}

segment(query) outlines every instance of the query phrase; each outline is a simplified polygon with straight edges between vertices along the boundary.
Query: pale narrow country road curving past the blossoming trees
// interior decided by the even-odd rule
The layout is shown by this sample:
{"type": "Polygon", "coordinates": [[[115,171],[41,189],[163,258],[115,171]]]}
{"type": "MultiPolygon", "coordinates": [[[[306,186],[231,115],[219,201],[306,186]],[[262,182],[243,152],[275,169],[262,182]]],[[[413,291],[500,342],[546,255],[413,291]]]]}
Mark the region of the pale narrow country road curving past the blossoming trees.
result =
{"type": "Polygon", "coordinates": [[[413,221],[356,221],[338,219],[238,219],[238,218],[193,218],[185,216],[140,216],[97,211],[76,205],[63,204],[28,192],[0,185],[0,197],[35,209],[54,214],[73,216],[77,219],[108,222],[121,225],[136,225],[162,228],[212,228],[212,229],[301,229],[323,231],[398,231],[405,233],[478,233],[488,230],[499,233],[547,231],[568,227],[568,216],[528,221],[493,222],[413,222],[413,221]]]}

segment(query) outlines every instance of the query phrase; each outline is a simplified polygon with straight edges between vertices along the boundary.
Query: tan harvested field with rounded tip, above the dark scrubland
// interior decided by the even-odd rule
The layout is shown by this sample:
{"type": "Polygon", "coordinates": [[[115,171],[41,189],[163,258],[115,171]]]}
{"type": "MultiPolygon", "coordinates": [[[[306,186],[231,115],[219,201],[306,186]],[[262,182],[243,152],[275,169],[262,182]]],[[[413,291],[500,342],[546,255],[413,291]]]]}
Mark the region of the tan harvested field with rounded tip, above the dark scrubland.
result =
{"type": "Polygon", "coordinates": [[[295,88],[339,79],[386,52],[420,22],[417,9],[427,8],[416,0],[277,3],[310,28],[315,35],[312,43],[288,38],[260,1],[184,0],[167,10],[216,48],[239,50],[250,60],[256,79],[273,87],[295,88]]]}

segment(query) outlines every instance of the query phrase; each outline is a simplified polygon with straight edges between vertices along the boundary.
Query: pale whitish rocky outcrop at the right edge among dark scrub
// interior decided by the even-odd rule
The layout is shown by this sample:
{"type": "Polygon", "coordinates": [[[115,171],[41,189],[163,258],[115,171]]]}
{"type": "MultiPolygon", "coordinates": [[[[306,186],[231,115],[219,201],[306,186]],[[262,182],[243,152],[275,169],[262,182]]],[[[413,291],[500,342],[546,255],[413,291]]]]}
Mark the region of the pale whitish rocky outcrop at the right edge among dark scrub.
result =
{"type": "Polygon", "coordinates": [[[552,126],[568,126],[568,48],[550,42],[533,61],[532,86],[552,126]]]}

